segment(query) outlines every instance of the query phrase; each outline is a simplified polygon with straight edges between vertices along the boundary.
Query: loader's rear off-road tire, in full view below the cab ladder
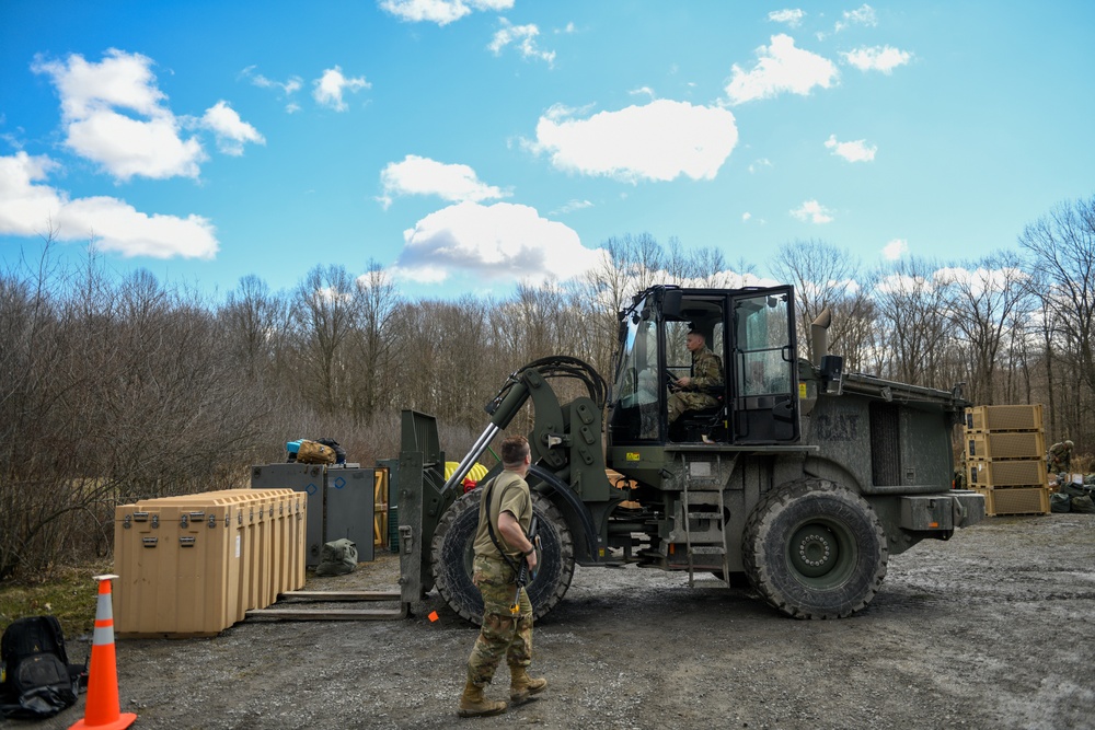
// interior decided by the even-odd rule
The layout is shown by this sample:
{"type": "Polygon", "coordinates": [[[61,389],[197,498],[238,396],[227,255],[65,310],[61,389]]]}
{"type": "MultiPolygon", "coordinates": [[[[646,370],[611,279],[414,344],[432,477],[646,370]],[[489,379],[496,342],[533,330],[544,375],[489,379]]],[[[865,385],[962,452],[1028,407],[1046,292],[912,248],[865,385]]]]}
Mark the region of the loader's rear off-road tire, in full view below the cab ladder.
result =
{"type": "Polygon", "coordinates": [[[871,506],[823,479],[770,493],[749,515],[741,548],[753,588],[795,618],[841,618],[865,607],[889,559],[871,506]]]}

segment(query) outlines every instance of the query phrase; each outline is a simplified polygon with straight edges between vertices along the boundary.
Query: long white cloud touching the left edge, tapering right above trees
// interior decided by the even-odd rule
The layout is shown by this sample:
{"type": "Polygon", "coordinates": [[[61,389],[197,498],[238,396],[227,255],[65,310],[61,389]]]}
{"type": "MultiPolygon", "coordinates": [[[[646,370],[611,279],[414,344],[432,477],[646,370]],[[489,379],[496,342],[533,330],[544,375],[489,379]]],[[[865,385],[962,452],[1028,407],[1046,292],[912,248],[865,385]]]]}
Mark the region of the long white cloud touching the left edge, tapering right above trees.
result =
{"type": "Polygon", "coordinates": [[[95,196],[70,199],[47,184],[57,163],[19,152],[0,157],[0,235],[43,235],[91,241],[100,251],[153,258],[212,258],[216,230],[201,216],[148,215],[124,200],[95,196]]]}

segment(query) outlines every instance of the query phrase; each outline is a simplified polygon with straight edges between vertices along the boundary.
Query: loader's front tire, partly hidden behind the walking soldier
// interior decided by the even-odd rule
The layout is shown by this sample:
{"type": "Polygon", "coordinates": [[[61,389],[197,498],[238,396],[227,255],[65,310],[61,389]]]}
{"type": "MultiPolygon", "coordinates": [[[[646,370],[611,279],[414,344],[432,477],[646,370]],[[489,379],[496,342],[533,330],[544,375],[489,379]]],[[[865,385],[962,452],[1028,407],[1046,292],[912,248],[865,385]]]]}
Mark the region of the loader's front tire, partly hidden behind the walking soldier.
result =
{"type": "MultiPolygon", "coordinates": [[[[472,542],[479,525],[483,489],[473,489],[441,515],[434,533],[434,581],[449,607],[472,622],[483,622],[483,596],[472,584],[472,542]]],[[[540,520],[539,566],[528,584],[532,617],[539,621],[566,594],[574,577],[574,541],[562,512],[546,497],[532,493],[532,511],[540,520]]]]}

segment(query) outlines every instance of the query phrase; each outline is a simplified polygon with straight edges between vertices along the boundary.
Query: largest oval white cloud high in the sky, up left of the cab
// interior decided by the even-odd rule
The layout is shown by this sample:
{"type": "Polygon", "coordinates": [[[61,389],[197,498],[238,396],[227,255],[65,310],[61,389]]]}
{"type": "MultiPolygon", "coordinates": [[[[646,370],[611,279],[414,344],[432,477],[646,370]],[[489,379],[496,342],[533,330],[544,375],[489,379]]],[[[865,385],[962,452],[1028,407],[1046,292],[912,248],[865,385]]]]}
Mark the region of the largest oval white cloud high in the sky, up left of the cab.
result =
{"type": "Polygon", "coordinates": [[[712,179],[738,142],[724,108],[658,100],[619,112],[574,118],[554,107],[540,117],[534,152],[560,170],[624,182],[712,179]]]}

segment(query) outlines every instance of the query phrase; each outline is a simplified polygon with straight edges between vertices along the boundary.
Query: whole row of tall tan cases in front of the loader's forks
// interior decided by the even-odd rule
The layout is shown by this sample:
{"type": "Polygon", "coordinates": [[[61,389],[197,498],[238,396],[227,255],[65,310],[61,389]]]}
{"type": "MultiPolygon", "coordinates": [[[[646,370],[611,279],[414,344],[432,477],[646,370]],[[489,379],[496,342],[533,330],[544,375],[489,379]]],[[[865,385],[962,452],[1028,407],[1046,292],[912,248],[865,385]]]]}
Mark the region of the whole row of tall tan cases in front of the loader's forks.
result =
{"type": "Polygon", "coordinates": [[[115,510],[119,637],[216,636],[304,586],[304,500],[227,489],[115,510]]]}

